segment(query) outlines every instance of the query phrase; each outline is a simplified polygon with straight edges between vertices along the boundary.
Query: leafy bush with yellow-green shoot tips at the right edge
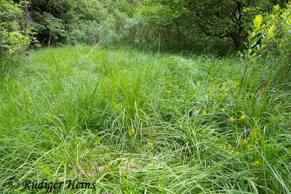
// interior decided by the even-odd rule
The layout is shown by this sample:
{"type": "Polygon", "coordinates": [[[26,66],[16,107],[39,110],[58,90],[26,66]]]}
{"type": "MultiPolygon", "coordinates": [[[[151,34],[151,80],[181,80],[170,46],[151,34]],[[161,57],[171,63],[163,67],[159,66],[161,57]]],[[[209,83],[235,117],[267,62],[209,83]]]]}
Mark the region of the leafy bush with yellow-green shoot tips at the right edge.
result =
{"type": "MultiPolygon", "coordinates": [[[[248,32],[247,49],[240,53],[246,60],[246,69],[263,59],[264,63],[271,63],[272,73],[277,81],[287,79],[291,69],[291,2],[286,8],[280,9],[279,5],[274,6],[272,14],[257,16],[254,20],[252,30],[248,32]],[[270,56],[274,58],[270,58],[270,56]]],[[[289,75],[290,76],[290,75],[289,75]]]]}

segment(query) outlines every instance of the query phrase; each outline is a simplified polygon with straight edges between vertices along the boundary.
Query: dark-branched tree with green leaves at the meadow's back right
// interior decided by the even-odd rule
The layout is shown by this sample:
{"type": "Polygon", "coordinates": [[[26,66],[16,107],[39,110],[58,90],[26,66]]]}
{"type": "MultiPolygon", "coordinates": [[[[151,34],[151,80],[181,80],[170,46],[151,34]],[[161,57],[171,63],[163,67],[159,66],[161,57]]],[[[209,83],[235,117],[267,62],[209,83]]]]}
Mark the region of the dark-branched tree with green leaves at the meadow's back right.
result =
{"type": "Polygon", "coordinates": [[[200,32],[231,38],[239,48],[247,37],[251,19],[267,12],[277,0],[189,0],[185,5],[200,32]]]}

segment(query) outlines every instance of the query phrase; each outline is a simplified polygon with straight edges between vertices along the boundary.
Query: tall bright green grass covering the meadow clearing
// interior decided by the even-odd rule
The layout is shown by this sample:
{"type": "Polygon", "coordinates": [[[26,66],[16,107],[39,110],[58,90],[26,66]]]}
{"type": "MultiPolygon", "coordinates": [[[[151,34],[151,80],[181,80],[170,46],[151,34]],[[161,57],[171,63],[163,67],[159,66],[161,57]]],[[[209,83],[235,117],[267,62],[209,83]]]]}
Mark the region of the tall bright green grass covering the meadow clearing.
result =
{"type": "Polygon", "coordinates": [[[291,82],[262,87],[271,61],[248,70],[237,112],[236,57],[75,46],[3,64],[0,193],[79,178],[96,188],[52,193],[289,194],[291,82]]]}

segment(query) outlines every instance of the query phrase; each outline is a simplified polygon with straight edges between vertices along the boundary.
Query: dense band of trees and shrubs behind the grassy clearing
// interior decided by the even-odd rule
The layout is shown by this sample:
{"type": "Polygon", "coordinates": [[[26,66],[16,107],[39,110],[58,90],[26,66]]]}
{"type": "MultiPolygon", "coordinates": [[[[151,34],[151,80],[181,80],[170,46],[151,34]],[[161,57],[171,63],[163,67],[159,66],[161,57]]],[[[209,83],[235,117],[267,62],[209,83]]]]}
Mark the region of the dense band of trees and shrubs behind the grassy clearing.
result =
{"type": "MultiPolygon", "coordinates": [[[[28,0],[0,2],[0,52],[29,45],[241,48],[254,16],[287,0],[28,0]]],[[[27,48],[28,49],[28,48],[27,48]]]]}

